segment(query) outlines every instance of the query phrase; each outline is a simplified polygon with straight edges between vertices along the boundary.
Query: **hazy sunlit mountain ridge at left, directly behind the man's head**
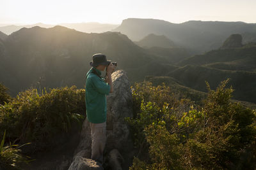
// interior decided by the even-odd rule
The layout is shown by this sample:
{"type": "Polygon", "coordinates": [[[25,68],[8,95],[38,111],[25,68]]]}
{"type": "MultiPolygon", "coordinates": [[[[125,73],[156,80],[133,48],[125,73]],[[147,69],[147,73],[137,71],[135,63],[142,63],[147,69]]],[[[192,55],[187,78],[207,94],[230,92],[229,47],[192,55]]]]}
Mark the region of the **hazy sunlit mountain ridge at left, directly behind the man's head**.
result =
{"type": "Polygon", "coordinates": [[[83,88],[94,53],[105,53],[108,60],[118,62],[131,81],[176,68],[119,32],[88,34],[62,26],[22,28],[3,41],[1,52],[5,72],[0,73],[0,80],[12,96],[31,86],[39,90],[65,85],[83,88]]]}

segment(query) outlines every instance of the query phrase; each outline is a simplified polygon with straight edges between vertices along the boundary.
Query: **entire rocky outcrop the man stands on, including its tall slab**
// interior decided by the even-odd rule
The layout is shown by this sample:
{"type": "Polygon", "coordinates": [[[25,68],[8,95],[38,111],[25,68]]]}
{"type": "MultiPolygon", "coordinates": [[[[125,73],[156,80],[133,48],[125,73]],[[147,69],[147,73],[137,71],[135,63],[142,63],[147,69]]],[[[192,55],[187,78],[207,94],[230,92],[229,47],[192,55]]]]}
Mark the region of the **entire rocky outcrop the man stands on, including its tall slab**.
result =
{"type": "MultiPolygon", "coordinates": [[[[107,141],[104,150],[104,164],[106,169],[128,169],[133,159],[133,145],[125,117],[132,117],[131,84],[123,70],[115,71],[112,74],[112,79],[114,92],[107,96],[107,141]]],[[[82,166],[77,165],[87,164],[86,161],[91,161],[92,138],[90,131],[90,124],[86,119],[83,123],[80,143],[74,153],[69,170],[81,169],[82,166]]]]}

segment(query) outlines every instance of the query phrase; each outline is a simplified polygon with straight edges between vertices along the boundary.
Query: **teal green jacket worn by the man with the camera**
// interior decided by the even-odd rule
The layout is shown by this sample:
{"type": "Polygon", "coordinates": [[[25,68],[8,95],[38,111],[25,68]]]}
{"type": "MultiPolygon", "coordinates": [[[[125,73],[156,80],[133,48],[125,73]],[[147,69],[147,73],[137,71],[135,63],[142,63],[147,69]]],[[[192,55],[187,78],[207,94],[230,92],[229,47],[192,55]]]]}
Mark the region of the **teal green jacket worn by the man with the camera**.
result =
{"type": "Polygon", "coordinates": [[[87,80],[85,85],[85,104],[86,117],[93,124],[106,122],[107,118],[107,99],[106,94],[109,94],[110,85],[92,73],[93,69],[100,75],[99,69],[92,67],[86,74],[87,80]]]}

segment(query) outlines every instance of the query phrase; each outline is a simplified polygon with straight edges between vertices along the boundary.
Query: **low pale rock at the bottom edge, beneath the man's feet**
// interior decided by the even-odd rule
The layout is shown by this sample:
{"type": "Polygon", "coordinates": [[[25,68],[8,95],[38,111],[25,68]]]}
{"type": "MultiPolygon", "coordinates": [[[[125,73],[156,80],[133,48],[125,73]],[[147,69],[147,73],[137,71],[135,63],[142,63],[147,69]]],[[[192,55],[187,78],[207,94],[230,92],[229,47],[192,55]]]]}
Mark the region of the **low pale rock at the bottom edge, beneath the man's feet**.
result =
{"type": "Polygon", "coordinates": [[[103,170],[103,167],[92,159],[76,157],[68,170],[103,170]]]}

